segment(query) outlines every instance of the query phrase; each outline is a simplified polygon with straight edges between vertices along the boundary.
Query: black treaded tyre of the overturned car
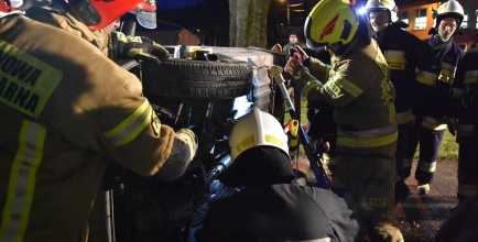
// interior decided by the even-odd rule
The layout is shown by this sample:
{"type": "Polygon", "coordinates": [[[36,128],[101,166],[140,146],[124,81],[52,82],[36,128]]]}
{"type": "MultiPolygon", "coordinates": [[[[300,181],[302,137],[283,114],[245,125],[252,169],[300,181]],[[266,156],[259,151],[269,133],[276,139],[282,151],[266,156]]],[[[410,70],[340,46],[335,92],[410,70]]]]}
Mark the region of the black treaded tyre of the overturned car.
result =
{"type": "Polygon", "coordinates": [[[247,95],[252,89],[252,66],[219,57],[217,62],[182,58],[143,62],[143,89],[170,97],[224,99],[247,95]]]}

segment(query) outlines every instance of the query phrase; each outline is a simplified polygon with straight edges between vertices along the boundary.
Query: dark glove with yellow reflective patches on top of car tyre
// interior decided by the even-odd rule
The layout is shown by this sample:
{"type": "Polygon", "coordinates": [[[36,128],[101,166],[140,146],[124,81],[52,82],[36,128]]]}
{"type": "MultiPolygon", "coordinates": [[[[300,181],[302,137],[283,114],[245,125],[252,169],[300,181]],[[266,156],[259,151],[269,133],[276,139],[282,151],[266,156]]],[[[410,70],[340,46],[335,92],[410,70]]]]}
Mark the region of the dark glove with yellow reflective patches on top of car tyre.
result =
{"type": "Polygon", "coordinates": [[[169,58],[166,48],[144,36],[127,36],[121,32],[111,35],[112,58],[134,58],[146,62],[161,63],[169,58]]]}

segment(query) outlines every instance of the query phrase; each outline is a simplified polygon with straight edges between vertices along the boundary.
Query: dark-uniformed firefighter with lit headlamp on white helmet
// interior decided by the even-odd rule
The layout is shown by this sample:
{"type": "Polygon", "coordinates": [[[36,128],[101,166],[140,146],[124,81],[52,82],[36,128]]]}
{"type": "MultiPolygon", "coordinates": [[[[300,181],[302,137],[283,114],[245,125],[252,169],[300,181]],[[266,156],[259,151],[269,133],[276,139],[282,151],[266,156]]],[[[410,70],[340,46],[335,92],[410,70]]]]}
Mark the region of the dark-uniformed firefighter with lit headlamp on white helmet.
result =
{"type": "Polygon", "coordinates": [[[412,123],[412,107],[423,106],[427,95],[433,92],[435,80],[441,70],[441,62],[433,48],[415,35],[404,31],[409,25],[398,21],[398,8],[393,0],[369,0],[365,7],[366,15],[373,29],[373,38],[389,64],[390,80],[395,87],[395,120],[399,127],[396,142],[395,204],[410,195],[404,183],[403,152],[412,123]],[[415,68],[419,74],[415,74],[415,68]]]}

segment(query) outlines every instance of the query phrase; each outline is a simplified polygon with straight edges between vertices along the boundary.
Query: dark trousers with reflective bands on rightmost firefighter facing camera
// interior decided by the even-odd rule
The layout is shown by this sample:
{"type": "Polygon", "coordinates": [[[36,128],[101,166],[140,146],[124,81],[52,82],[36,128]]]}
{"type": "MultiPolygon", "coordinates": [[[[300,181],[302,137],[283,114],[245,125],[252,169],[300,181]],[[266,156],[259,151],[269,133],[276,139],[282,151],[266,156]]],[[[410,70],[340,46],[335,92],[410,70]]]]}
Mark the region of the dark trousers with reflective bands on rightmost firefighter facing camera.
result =
{"type": "Polygon", "coordinates": [[[439,144],[442,143],[445,130],[430,130],[416,122],[410,128],[405,152],[403,154],[403,178],[412,173],[413,155],[420,143],[419,164],[416,165],[415,179],[420,184],[430,184],[436,168],[439,144]]]}

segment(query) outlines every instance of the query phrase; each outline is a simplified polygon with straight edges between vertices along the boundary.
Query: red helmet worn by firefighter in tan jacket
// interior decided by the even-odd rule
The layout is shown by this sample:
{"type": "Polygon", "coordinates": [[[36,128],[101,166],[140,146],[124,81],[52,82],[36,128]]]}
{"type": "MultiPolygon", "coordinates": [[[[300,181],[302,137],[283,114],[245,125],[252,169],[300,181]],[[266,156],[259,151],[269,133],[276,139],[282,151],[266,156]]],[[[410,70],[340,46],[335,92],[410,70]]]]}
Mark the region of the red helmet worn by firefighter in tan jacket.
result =
{"type": "Polygon", "coordinates": [[[156,28],[155,0],[65,0],[90,30],[100,30],[127,12],[148,29],[156,28]]]}

